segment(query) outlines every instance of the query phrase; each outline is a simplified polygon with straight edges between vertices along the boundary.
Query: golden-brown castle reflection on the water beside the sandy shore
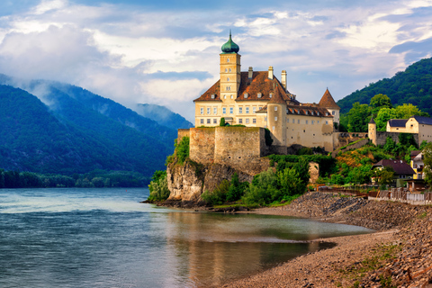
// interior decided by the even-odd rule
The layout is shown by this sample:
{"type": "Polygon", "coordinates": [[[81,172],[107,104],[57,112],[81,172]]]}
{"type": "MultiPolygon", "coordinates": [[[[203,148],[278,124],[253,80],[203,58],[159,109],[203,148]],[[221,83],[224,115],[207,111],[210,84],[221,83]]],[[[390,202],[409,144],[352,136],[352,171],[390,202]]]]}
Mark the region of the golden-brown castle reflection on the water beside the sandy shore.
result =
{"type": "MultiPolygon", "coordinates": [[[[175,255],[172,271],[175,271],[177,283],[186,282],[189,286],[222,284],[222,281],[250,275],[293,257],[332,246],[302,241],[320,237],[319,234],[297,236],[301,239],[293,241],[280,238],[280,230],[268,228],[268,225],[287,224],[287,218],[268,217],[267,225],[259,219],[262,216],[168,213],[167,247],[168,253],[175,255]]],[[[289,235],[289,232],[283,235],[289,235]]]]}

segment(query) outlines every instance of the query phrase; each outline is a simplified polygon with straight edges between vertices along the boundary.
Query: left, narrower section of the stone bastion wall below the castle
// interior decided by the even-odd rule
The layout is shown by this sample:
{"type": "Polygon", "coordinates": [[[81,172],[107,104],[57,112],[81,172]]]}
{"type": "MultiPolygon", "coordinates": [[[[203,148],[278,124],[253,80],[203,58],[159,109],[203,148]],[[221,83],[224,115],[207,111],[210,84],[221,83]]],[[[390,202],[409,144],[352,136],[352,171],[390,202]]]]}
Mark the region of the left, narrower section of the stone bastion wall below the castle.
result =
{"type": "Polygon", "coordinates": [[[214,162],[215,128],[191,128],[189,130],[189,157],[196,162],[214,162]]]}

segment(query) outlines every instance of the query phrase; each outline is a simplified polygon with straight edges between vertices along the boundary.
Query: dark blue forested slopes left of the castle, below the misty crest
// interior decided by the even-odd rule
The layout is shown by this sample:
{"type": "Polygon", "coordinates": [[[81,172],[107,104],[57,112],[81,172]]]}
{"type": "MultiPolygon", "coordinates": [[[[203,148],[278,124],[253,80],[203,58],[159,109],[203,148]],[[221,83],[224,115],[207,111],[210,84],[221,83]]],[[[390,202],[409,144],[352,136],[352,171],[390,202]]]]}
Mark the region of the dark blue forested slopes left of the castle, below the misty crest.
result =
{"type": "Polygon", "coordinates": [[[149,176],[164,167],[172,139],[162,145],[67,94],[58,93],[58,100],[58,113],[51,113],[36,96],[0,85],[0,168],[56,174],[98,168],[149,176]]]}

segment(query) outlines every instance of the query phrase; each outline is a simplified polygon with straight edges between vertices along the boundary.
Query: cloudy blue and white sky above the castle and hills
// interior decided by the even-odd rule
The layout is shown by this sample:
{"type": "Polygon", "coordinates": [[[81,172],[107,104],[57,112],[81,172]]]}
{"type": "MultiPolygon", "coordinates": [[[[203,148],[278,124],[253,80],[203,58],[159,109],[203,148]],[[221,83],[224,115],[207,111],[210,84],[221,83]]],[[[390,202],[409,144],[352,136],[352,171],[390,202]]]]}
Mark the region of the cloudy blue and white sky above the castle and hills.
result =
{"type": "Polygon", "coordinates": [[[286,70],[288,90],[318,103],[326,88],[338,100],[430,58],[432,0],[3,0],[0,73],[193,121],[229,30],[242,71],[286,70]]]}

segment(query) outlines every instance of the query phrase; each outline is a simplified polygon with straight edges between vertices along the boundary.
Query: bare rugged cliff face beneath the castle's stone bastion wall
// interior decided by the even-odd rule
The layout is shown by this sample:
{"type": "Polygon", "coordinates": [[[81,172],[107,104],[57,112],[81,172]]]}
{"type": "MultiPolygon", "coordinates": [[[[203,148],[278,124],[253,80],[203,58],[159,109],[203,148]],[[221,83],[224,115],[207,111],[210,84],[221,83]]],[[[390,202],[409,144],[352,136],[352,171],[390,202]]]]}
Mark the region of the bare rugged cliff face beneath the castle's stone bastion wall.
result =
{"type": "Polygon", "coordinates": [[[187,159],[183,165],[179,165],[174,161],[166,168],[168,189],[171,192],[168,201],[199,202],[205,190],[213,191],[222,180],[230,181],[236,172],[239,181],[251,182],[253,179],[253,175],[224,164],[198,164],[187,159]]]}

